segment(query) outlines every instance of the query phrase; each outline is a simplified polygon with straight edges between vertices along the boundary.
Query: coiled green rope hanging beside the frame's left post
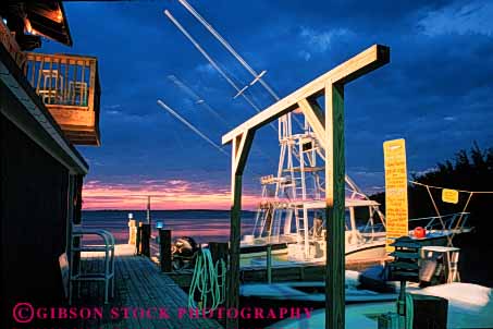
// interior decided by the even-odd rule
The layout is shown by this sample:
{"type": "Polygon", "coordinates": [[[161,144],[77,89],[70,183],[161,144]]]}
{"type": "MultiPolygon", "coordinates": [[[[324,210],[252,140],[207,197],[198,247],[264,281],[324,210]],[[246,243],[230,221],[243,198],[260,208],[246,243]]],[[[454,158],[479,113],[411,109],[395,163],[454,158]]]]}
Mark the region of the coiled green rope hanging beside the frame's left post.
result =
{"type": "Polygon", "coordinates": [[[220,259],[214,265],[208,248],[198,252],[196,261],[188,293],[188,307],[208,314],[224,303],[226,264],[220,259]],[[219,270],[221,270],[221,275],[219,275],[219,270]],[[194,300],[196,291],[200,294],[198,305],[194,300]]]}

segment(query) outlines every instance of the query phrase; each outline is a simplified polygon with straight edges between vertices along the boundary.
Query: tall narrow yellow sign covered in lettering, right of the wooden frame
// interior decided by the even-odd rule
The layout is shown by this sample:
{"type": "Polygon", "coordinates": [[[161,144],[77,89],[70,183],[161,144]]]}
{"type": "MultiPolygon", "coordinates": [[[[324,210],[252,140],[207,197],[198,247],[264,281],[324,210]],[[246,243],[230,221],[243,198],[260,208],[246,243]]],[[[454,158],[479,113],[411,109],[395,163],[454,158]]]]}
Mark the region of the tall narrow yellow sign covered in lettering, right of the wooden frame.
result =
{"type": "Polygon", "coordinates": [[[386,251],[396,237],[409,234],[407,214],[406,143],[394,139],[383,143],[385,164],[386,251]]]}

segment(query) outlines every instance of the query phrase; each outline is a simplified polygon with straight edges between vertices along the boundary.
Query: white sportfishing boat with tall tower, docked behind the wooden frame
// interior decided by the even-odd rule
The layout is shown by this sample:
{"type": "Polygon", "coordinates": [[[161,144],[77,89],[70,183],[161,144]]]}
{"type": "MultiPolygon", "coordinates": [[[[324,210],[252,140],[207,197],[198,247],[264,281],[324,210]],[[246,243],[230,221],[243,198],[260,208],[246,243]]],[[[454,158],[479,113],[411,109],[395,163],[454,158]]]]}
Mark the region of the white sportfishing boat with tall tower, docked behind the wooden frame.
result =
{"type": "MultiPolygon", "coordinates": [[[[243,236],[243,266],[262,265],[270,248],[273,265],[285,261],[325,261],[325,200],[323,167],[317,167],[323,149],[307,127],[305,134],[285,136],[281,144],[278,175],[262,176],[261,203],[251,234],[243,236]],[[291,149],[291,154],[289,150],[291,149]],[[297,153],[293,150],[297,149],[297,153]],[[285,159],[288,154],[287,161],[285,159]],[[299,167],[294,167],[298,159],[299,167]],[[283,168],[287,163],[287,168],[283,168]]],[[[382,259],[385,251],[385,218],[380,204],[371,200],[346,175],[346,260],[382,259]]],[[[469,232],[468,212],[410,219],[409,236],[422,245],[447,245],[455,234],[469,232]]]]}

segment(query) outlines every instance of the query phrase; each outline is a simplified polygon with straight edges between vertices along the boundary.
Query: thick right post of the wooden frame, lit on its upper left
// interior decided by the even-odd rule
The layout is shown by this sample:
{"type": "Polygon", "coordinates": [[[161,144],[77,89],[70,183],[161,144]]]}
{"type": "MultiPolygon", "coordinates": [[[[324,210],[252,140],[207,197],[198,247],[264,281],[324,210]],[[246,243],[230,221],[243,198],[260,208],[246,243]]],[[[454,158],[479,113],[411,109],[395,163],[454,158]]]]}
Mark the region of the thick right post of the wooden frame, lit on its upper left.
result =
{"type": "Polygon", "coordinates": [[[325,328],[345,324],[344,86],[325,84],[325,328]]]}

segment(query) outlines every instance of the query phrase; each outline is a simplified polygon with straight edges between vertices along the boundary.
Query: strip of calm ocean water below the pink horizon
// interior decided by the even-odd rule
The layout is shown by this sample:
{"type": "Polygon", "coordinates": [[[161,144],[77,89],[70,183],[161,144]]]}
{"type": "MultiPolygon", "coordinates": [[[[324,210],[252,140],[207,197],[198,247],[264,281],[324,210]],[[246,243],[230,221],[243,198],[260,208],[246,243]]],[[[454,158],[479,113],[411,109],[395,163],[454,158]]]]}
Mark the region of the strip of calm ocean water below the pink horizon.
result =
{"type": "MultiPolygon", "coordinates": [[[[113,233],[116,243],[128,240],[128,214],[134,219],[146,222],[143,210],[84,210],[83,226],[106,229],[113,233]]],[[[157,235],[156,223],[162,221],[165,229],[172,230],[173,239],[192,236],[198,243],[210,241],[226,242],[230,239],[230,211],[227,210],[152,210],[152,235],[157,235]]],[[[255,212],[242,215],[242,235],[250,234],[255,212]]]]}

